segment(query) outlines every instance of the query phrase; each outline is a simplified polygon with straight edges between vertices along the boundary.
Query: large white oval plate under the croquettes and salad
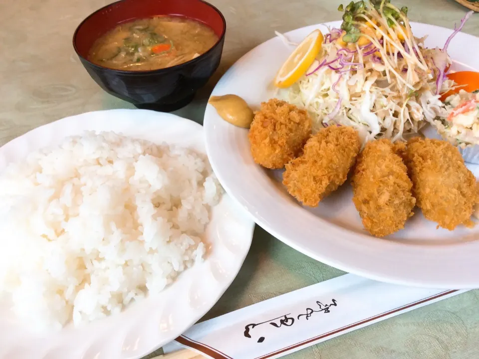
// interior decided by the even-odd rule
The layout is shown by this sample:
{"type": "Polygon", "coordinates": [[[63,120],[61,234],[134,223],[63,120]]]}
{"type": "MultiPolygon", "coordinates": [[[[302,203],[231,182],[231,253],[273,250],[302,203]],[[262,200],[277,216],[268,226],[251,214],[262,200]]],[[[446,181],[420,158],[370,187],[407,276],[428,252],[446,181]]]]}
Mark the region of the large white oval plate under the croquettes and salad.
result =
{"type": "MultiPolygon", "coordinates": [[[[459,20],[459,19],[458,19],[459,20]]],[[[294,42],[324,25],[288,32],[294,42]]],[[[429,34],[426,45],[442,47],[452,30],[413,23],[416,36],[429,34]]],[[[244,55],[220,80],[213,95],[236,94],[253,108],[274,97],[270,81],[292,51],[272,38],[244,55]]],[[[479,38],[460,33],[449,46],[452,69],[477,69],[479,38]]],[[[372,279],[437,288],[479,288],[479,226],[453,232],[436,229],[420,211],[406,229],[386,239],[366,233],[351,201],[349,184],[317,208],[299,205],[280,183],[280,172],[254,164],[247,130],[223,121],[212,106],[205,113],[207,152],[221,183],[256,223],[294,249],[331,266],[372,279]]],[[[472,166],[476,175],[479,167],[472,166]]]]}

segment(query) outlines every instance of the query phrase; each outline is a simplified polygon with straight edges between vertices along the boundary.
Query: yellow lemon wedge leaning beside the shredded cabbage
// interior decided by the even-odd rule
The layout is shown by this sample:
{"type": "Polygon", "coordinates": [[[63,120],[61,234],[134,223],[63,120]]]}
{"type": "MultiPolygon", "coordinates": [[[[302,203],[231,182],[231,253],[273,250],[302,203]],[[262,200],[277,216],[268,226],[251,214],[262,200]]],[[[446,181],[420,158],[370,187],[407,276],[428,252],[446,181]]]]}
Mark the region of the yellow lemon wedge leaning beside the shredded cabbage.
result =
{"type": "Polygon", "coordinates": [[[307,35],[279,69],[274,78],[274,85],[285,88],[299,80],[321,51],[323,41],[323,34],[319,30],[307,35]]]}

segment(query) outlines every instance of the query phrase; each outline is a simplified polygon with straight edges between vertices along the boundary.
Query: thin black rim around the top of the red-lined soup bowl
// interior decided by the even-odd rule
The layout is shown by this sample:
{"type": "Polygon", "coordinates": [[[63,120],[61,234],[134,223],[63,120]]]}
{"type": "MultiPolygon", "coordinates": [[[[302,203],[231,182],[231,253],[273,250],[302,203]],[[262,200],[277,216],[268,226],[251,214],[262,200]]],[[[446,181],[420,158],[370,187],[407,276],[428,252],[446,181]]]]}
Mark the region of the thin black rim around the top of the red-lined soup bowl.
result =
{"type": "MultiPolygon", "coordinates": [[[[76,47],[76,36],[77,36],[77,33],[78,33],[78,30],[82,27],[82,25],[87,22],[89,20],[90,17],[92,17],[93,15],[95,15],[96,13],[100,12],[100,11],[103,11],[111,6],[114,6],[115,4],[118,4],[119,2],[124,2],[124,1],[131,1],[131,0],[119,0],[119,1],[115,1],[115,2],[112,2],[112,3],[109,3],[108,5],[105,5],[101,8],[99,8],[98,10],[95,10],[93,11],[91,14],[89,14],[87,17],[85,17],[83,19],[83,21],[80,22],[80,24],[76,27],[75,29],[75,32],[73,33],[73,48],[75,49],[75,52],[76,54],[78,55],[78,57],[86,62],[88,62],[88,64],[92,67],[96,67],[97,69],[101,69],[101,70],[109,70],[109,71],[114,71],[115,73],[119,73],[119,74],[124,74],[124,75],[148,75],[148,74],[161,74],[161,73],[167,73],[167,72],[170,72],[172,70],[176,70],[176,69],[181,69],[182,67],[185,67],[185,66],[188,66],[192,63],[195,63],[195,62],[198,62],[198,61],[201,61],[202,58],[206,57],[210,52],[212,52],[225,38],[225,35],[226,35],[226,19],[225,19],[225,16],[223,15],[223,13],[213,4],[207,2],[207,1],[204,1],[204,0],[195,0],[195,1],[199,1],[199,2],[203,2],[204,4],[210,6],[213,10],[215,10],[221,17],[221,20],[223,21],[223,30],[221,32],[221,36],[219,36],[218,38],[218,41],[205,53],[201,54],[200,56],[190,60],[190,61],[187,61],[187,62],[183,62],[179,65],[175,65],[175,66],[171,66],[171,67],[165,67],[165,68],[160,68],[160,69],[156,69],[156,70],[118,70],[118,69],[114,69],[114,68],[111,68],[111,67],[106,67],[106,66],[101,66],[101,65],[97,65],[96,63],[93,63],[91,62],[90,60],[88,60],[85,56],[81,55],[80,52],[78,51],[77,47],[76,47]]],[[[181,13],[180,14],[175,14],[175,15],[182,15],[181,13]]],[[[188,17],[188,16],[185,16],[185,17],[188,17]]],[[[119,22],[120,23],[120,22],[119,22]]],[[[208,25],[208,24],[207,24],[208,25]]]]}

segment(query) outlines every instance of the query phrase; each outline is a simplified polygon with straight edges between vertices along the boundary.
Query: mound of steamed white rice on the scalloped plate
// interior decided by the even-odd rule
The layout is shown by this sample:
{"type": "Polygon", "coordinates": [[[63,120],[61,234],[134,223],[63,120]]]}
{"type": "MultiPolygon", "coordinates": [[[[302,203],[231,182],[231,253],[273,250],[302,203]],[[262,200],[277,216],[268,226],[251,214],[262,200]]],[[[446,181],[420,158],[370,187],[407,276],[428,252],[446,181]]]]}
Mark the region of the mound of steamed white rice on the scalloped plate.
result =
{"type": "Polygon", "coordinates": [[[32,153],[0,177],[0,293],[37,329],[118,313],[202,260],[220,195],[184,148],[86,133],[32,153]]]}

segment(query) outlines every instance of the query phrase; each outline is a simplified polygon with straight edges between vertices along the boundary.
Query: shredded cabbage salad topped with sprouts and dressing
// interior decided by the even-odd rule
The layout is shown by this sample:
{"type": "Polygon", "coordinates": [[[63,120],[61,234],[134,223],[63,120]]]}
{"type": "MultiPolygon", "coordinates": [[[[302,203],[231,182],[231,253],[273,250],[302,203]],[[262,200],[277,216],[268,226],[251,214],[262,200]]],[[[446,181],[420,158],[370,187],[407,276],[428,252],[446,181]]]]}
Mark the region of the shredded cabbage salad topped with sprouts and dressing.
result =
{"type": "Polygon", "coordinates": [[[471,13],[442,49],[430,49],[426,37],[413,35],[407,8],[387,0],[351,2],[341,29],[328,28],[306,74],[279,95],[311,114],[314,131],[336,124],[356,128],[364,142],[407,139],[424,120],[447,117],[440,94],[455,86],[446,77],[447,48],[471,13]]]}

